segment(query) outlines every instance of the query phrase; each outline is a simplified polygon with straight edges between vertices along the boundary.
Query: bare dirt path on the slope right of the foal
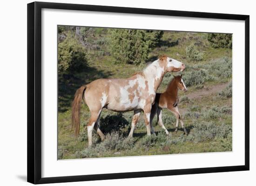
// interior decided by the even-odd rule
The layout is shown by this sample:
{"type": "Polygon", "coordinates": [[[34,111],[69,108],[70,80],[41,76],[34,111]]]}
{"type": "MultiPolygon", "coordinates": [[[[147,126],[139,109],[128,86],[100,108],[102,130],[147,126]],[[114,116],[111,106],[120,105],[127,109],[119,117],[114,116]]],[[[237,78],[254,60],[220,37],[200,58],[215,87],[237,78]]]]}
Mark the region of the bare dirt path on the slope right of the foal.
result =
{"type": "Polygon", "coordinates": [[[216,92],[223,90],[227,85],[228,85],[228,83],[222,83],[222,84],[209,86],[207,88],[203,88],[201,90],[191,92],[191,93],[187,94],[187,96],[189,97],[189,99],[200,99],[203,96],[208,96],[212,93],[216,93],[216,92]]]}

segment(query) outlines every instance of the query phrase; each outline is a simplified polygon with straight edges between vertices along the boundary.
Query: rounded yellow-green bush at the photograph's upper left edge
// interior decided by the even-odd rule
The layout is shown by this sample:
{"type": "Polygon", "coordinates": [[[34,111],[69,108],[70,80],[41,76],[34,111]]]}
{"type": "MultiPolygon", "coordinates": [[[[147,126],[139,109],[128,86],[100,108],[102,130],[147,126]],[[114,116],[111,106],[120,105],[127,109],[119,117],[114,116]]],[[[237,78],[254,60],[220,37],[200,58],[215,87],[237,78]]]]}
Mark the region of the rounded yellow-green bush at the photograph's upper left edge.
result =
{"type": "Polygon", "coordinates": [[[83,46],[68,33],[67,38],[58,45],[58,72],[81,71],[86,63],[86,53],[83,46]]]}

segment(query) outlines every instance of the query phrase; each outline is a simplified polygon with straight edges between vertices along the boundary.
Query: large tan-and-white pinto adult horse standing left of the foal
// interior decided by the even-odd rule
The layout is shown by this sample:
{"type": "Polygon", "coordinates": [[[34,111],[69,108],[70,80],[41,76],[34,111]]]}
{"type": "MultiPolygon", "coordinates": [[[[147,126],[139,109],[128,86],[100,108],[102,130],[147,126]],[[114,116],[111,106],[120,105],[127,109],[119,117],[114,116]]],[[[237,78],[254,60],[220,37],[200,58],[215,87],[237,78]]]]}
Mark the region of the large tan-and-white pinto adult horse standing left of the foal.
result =
{"type": "Polygon", "coordinates": [[[90,120],[87,124],[88,146],[92,145],[92,131],[95,127],[101,141],[105,135],[101,132],[99,118],[102,109],[115,112],[127,112],[134,110],[134,119],[129,136],[133,135],[135,122],[144,112],[144,120],[147,135],[150,135],[150,112],[155,101],[158,89],[165,73],[172,71],[184,71],[185,65],[173,58],[161,56],[149,64],[143,71],[135,73],[127,79],[104,78],[82,85],[76,90],[72,103],[72,128],[75,135],[79,134],[82,99],[90,110],[90,120]],[[96,125],[95,125],[96,124],[96,125]]]}

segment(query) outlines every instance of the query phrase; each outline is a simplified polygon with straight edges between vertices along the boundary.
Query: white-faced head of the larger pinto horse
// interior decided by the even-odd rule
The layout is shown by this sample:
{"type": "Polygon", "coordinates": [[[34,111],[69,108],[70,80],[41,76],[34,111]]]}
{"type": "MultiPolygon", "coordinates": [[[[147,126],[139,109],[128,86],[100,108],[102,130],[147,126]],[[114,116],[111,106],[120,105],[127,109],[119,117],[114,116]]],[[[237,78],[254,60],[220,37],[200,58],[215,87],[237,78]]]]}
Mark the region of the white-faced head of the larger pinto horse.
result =
{"type": "Polygon", "coordinates": [[[167,56],[159,57],[159,62],[163,64],[164,70],[167,72],[184,71],[186,68],[182,62],[167,56]]]}

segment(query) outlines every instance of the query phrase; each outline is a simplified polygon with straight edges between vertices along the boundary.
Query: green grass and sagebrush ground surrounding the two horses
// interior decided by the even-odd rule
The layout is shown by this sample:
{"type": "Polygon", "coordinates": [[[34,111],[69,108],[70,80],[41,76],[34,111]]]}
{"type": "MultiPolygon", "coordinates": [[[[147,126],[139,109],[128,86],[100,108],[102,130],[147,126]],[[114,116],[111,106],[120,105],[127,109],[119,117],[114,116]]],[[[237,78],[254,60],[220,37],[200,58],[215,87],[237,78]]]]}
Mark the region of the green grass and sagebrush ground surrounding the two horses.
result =
{"type": "MultiPolygon", "coordinates": [[[[189,98],[189,94],[195,91],[200,94],[206,87],[231,82],[232,51],[210,47],[207,35],[195,32],[165,32],[162,44],[148,56],[148,61],[152,61],[166,54],[186,64],[183,79],[189,90],[187,93],[179,91],[179,110],[189,131],[188,136],[183,134],[180,126],[177,133],[174,132],[175,117],[163,109],[163,123],[171,135],[167,136],[154,118],[156,135],[147,136],[141,113],[134,138],[128,138],[133,112],[120,114],[103,109],[100,123],[107,138],[101,142],[94,131],[93,147],[87,148],[86,124],[90,113],[88,107],[82,104],[80,135],[75,138],[70,124],[70,104],[75,90],[98,78],[130,77],[145,67],[145,64],[116,63],[108,55],[107,39],[101,37],[104,34],[102,30],[95,32],[92,42],[100,49],[88,51],[88,66],[84,71],[69,79],[59,77],[58,159],[232,151],[232,83],[201,99],[189,98]],[[186,47],[189,45],[196,45],[196,49],[203,53],[201,61],[187,59],[186,47]]],[[[165,75],[158,92],[166,89],[172,74],[165,75]]]]}

